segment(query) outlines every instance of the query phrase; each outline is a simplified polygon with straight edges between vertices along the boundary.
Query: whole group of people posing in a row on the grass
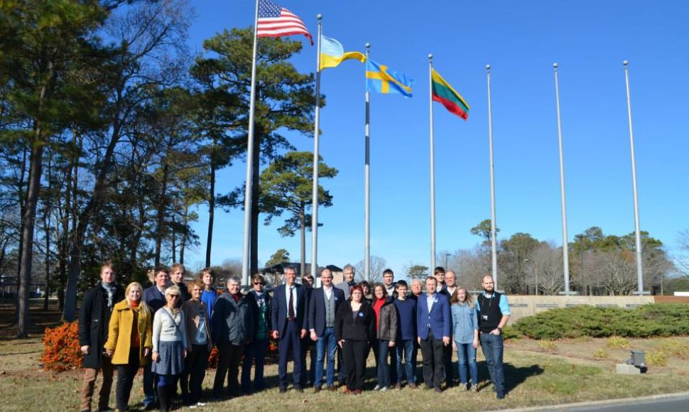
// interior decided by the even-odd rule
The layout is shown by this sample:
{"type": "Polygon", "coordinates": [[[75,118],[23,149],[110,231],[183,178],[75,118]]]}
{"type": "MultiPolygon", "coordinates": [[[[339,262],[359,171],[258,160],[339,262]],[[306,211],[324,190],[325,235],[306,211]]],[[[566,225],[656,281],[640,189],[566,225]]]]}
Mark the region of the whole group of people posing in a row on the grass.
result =
{"type": "Polygon", "coordinates": [[[366,360],[376,360],[375,391],[411,389],[423,384],[441,392],[454,386],[452,351],[459,358],[462,390],[477,391],[477,347],[481,345],[498,399],[504,398],[502,328],[509,319],[506,296],[494,291],[491,276],[474,301],[456,285],[454,272],[436,268],[422,282],[394,281],[386,269],[383,282],[354,282],[354,267],[344,267],[344,281],[335,285],[330,269],[296,283],[294,268],[285,282],[264,291],[266,280],[251,277],[251,290],[241,292],[239,278],[227,279],[218,293],[212,269],[185,285],[184,266],[155,269],[153,285],[144,289],[115,282],[112,264],[101,268],[101,281],[85,293],[80,308],[79,337],[85,369],[81,410],[90,411],[98,374],[102,374],[98,410],[108,410],[114,369],[116,408],[127,411],[134,376],[143,367],[143,406],[169,411],[178,385],[183,403],[202,405],[202,382],[210,351],[218,351],[214,399],[266,389],[264,361],[272,337],[278,343],[278,389],[287,391],[287,365],[293,362],[293,389],[308,386],[318,393],[335,391],[336,379],[347,394],[361,394],[366,360]],[[408,293],[411,289],[411,293],[408,293]],[[423,382],[417,380],[421,349],[423,382]],[[307,352],[312,358],[307,367],[307,352]],[[239,366],[242,363],[242,374],[239,366]],[[337,360],[337,371],[335,363],[337,360]],[[254,376],[251,379],[251,369],[254,376]],[[325,371],[325,376],[324,376],[325,371]],[[227,389],[224,388],[227,379],[227,389]],[[241,379],[241,382],[240,382],[241,379]],[[469,380],[470,379],[470,380],[469,380]],[[324,387],[325,385],[325,387],[324,387]]]}

